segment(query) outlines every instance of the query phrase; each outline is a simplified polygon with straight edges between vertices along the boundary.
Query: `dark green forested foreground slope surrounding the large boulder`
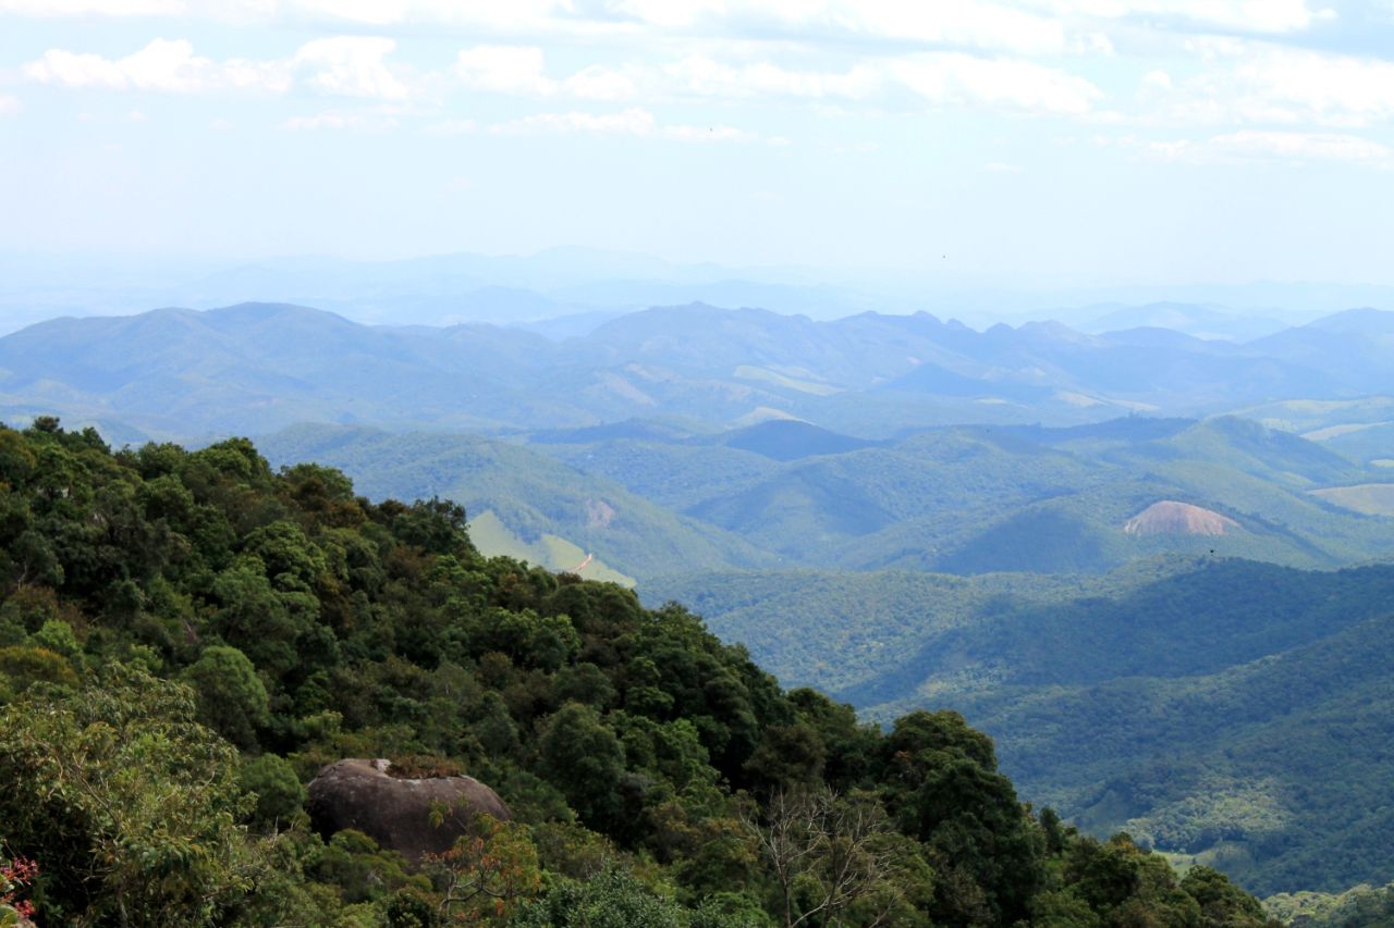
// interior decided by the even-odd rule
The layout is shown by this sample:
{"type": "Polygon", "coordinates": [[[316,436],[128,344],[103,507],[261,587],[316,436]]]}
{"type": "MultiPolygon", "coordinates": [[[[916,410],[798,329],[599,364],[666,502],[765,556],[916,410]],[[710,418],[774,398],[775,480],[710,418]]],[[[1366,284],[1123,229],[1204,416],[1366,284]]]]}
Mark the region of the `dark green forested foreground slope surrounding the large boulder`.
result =
{"type": "MultiPolygon", "coordinates": [[[[882,730],[679,606],[478,555],[241,439],[0,431],[0,911],[39,924],[1259,925],[1022,801],[952,712],[882,730]],[[413,867],[304,784],[495,787],[413,867]]],[[[7,915],[0,914],[0,920],[7,915]]]]}

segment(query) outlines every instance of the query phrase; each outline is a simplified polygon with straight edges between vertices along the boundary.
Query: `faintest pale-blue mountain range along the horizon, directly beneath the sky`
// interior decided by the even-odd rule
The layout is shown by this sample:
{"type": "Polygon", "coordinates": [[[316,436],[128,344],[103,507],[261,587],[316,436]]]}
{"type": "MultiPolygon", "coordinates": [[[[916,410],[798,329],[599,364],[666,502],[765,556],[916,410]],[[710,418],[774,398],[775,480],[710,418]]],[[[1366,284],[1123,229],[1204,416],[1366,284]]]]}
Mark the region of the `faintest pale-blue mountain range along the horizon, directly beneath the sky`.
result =
{"type": "Polygon", "coordinates": [[[1394,308],[1394,287],[1334,283],[1064,287],[942,268],[749,268],[562,247],[531,255],[389,261],[75,256],[0,252],[0,334],[53,316],[208,309],[279,300],[390,325],[539,326],[566,337],[654,305],[763,307],[814,319],[930,311],[976,327],[1057,319],[1082,332],[1160,326],[1248,341],[1345,307],[1394,308]]]}

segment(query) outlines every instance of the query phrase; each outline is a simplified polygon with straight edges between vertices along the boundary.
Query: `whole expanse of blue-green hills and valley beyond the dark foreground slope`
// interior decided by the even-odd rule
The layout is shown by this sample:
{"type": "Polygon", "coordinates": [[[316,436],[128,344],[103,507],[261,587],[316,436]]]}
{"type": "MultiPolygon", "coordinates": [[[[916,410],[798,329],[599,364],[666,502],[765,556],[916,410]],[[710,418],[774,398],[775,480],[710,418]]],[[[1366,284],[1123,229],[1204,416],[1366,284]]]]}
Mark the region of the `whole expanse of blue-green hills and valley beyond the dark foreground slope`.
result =
{"type": "Polygon", "coordinates": [[[1388,319],[1310,323],[1303,354],[710,307],[558,341],[245,305],[0,339],[0,397],[132,444],[255,426],[276,468],[460,503],[484,555],[680,602],[866,719],[962,712],[1089,832],[1340,892],[1391,876],[1383,805],[1348,800],[1394,775],[1394,380],[1338,347],[1388,319]]]}

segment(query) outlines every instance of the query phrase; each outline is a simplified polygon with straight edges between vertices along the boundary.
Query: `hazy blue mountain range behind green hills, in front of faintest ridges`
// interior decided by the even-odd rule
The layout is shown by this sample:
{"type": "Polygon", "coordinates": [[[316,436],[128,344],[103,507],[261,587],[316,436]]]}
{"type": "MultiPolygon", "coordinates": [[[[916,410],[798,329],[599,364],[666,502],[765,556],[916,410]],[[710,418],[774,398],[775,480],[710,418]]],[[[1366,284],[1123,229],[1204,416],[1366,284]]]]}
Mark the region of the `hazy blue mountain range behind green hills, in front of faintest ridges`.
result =
{"type": "Polygon", "coordinates": [[[666,417],[797,418],[860,439],[948,424],[1071,425],[1394,393],[1394,314],[1358,309],[1236,346],[1059,323],[977,332],[917,314],[831,322],[687,305],[555,341],[491,325],[365,326],[283,304],[53,319],[0,339],[0,414],[117,439],[297,422],[487,433],[666,417]]]}

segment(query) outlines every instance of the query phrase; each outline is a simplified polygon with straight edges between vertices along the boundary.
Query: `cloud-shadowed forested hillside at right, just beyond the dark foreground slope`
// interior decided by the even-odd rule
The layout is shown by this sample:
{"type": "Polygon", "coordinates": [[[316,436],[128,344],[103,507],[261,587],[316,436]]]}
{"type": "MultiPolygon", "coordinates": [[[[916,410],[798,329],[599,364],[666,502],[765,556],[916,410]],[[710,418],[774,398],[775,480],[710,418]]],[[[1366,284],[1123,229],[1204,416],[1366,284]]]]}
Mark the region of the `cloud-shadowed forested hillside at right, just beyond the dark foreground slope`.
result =
{"type": "Polygon", "coordinates": [[[654,582],[789,684],[960,711],[1026,789],[1260,892],[1390,879],[1394,567],[1143,562],[1105,577],[654,582]],[[1087,733],[1087,734],[1082,734],[1087,733]]]}

